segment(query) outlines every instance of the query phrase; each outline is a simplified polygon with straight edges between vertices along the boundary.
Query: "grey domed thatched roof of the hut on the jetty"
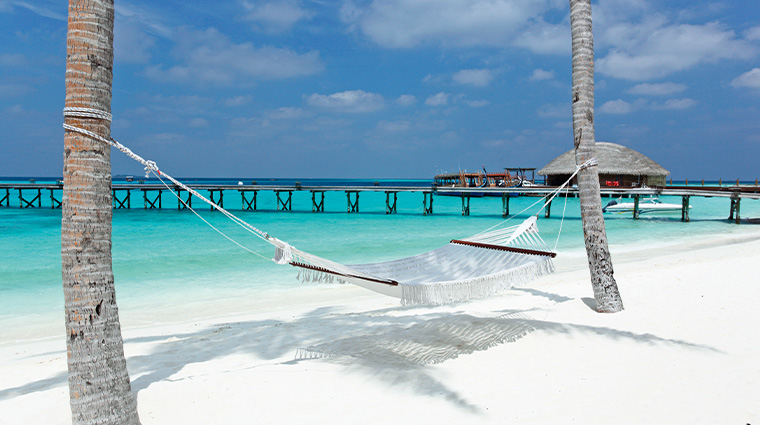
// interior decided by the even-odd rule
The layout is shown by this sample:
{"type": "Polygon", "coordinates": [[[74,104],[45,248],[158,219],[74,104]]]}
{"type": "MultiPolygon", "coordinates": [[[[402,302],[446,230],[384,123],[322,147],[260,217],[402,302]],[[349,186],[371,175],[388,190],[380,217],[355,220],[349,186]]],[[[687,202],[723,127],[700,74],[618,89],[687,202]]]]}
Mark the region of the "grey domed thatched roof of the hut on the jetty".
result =
{"type": "MultiPolygon", "coordinates": [[[[597,142],[596,157],[599,160],[599,174],[620,174],[633,176],[667,176],[670,171],[646,156],[616,143],[597,142]]],[[[573,174],[575,172],[575,150],[569,150],[554,158],[552,162],[538,170],[542,176],[573,174]]]]}

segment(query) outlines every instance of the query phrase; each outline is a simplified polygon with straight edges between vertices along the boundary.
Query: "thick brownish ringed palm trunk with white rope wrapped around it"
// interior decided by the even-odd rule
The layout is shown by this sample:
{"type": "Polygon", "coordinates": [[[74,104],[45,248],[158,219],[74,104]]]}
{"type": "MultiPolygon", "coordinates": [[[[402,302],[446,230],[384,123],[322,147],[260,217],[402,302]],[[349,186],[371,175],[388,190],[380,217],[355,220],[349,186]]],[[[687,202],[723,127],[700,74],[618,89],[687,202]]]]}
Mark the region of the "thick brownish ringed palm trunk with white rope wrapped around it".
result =
{"type": "MultiPolygon", "coordinates": [[[[70,0],[66,107],[111,110],[113,0],[70,0]]],[[[69,125],[109,137],[110,122],[69,125]]],[[[124,358],[111,268],[110,147],[64,136],[61,260],[69,394],[74,424],[139,424],[124,358]]]]}

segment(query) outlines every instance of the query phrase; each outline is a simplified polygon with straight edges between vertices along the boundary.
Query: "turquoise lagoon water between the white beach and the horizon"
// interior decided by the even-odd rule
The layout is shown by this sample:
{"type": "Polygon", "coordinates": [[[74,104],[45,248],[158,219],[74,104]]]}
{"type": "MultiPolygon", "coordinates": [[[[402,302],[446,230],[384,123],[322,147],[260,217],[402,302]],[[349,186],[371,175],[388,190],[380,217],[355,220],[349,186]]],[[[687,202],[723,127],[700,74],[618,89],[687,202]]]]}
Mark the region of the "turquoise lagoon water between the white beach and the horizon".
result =
{"type": "MultiPolygon", "coordinates": [[[[362,182],[372,184],[372,180],[362,182]]],[[[402,183],[427,184],[423,181],[402,183]]],[[[3,195],[0,193],[0,197],[3,195]]],[[[63,317],[60,210],[20,209],[16,196],[12,194],[11,207],[0,207],[0,326],[20,317],[63,317]]],[[[361,193],[358,214],[346,213],[344,192],[326,193],[324,213],[311,212],[308,191],[294,192],[292,212],[276,211],[275,195],[267,191],[259,193],[260,211],[240,211],[237,192],[228,192],[224,202],[233,213],[271,235],[343,263],[418,254],[503,220],[500,198],[473,198],[471,215],[462,217],[461,200],[444,196],[436,196],[434,213],[424,216],[422,197],[421,192],[399,193],[398,213],[392,215],[385,214],[383,192],[361,193]]],[[[512,198],[510,210],[517,213],[536,200],[512,198]]],[[[661,200],[681,201],[668,197],[661,200]]],[[[607,201],[603,199],[603,203],[607,201]]],[[[190,211],[177,211],[176,198],[170,194],[165,195],[163,202],[164,210],[144,210],[142,199],[133,198],[133,209],[114,211],[113,269],[122,310],[177,306],[189,300],[212,302],[256,297],[267,291],[290,292],[303,287],[304,284],[296,281],[296,271],[291,267],[278,266],[252,255],[220,236],[190,211]]],[[[545,219],[541,214],[539,219],[542,236],[550,246],[557,241],[562,224],[557,246],[560,255],[583,249],[578,200],[567,200],[563,221],[564,202],[560,198],[555,200],[552,217],[545,219]]],[[[43,200],[43,205],[49,204],[43,200]]],[[[691,205],[690,223],[682,223],[680,213],[645,216],[637,221],[629,215],[606,216],[613,254],[615,250],[631,246],[667,245],[705,235],[740,233],[751,226],[737,226],[726,220],[728,199],[693,197],[691,205]]],[[[194,200],[194,206],[230,237],[271,257],[273,250],[269,245],[221,214],[209,211],[200,201],[194,200]]],[[[741,207],[742,217],[760,217],[760,201],[744,200],[741,207]]],[[[516,224],[521,217],[513,222],[516,224]]]]}

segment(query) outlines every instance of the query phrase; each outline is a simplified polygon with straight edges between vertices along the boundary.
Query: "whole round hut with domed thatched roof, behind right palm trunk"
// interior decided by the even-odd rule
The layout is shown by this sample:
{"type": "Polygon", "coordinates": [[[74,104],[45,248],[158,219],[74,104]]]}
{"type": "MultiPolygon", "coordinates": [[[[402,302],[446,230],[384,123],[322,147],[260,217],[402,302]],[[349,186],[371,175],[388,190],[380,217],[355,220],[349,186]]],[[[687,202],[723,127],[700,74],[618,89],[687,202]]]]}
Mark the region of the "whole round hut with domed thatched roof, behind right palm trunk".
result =
{"type": "MultiPolygon", "coordinates": [[[[633,149],[616,143],[597,142],[599,182],[602,186],[664,186],[670,172],[633,149]]],[[[549,185],[560,185],[575,172],[575,150],[554,158],[538,174],[549,185]]]]}

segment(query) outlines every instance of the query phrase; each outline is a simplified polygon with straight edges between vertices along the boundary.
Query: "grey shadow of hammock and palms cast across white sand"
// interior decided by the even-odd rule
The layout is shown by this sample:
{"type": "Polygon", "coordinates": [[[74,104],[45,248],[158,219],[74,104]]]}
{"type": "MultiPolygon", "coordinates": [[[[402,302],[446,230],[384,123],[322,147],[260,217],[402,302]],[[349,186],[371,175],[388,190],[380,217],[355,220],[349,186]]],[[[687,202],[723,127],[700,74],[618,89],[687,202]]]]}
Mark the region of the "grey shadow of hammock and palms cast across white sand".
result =
{"type": "Polygon", "coordinates": [[[717,351],[651,334],[534,320],[522,311],[494,314],[498,316],[477,317],[424,307],[345,314],[324,307],[292,321],[227,323],[170,338],[130,339],[127,343],[163,340],[151,352],[128,359],[130,374],[136,377],[132,389],[137,393],[153,383],[192,379],[174,375],[190,364],[247,354],[259,360],[257,365],[245,369],[268,365],[298,368],[307,361],[332,362],[345,366],[349,373],[366,374],[368,379],[379,379],[388,386],[400,385],[425,396],[443,395],[458,408],[480,413],[478,406],[436,378],[431,365],[516,343],[537,331],[587,333],[637,343],[717,351]]]}

